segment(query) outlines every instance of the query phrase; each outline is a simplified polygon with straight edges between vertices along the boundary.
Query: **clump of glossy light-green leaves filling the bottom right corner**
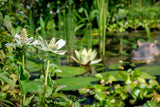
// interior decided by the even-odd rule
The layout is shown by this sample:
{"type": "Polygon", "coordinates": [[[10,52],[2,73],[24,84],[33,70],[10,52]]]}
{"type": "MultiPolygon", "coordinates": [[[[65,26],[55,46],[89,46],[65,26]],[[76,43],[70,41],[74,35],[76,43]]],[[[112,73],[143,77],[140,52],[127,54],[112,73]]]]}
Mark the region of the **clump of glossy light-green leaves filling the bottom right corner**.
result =
{"type": "Polygon", "coordinates": [[[159,85],[153,76],[142,73],[139,70],[128,70],[128,72],[120,71],[117,76],[121,78],[120,82],[116,83],[115,76],[96,74],[99,78],[99,84],[91,85],[81,89],[81,93],[93,95],[97,100],[92,104],[99,106],[134,106],[144,104],[144,106],[159,104],[155,96],[159,96],[159,85]],[[145,75],[145,76],[143,76],[145,75]],[[149,79],[149,83],[145,79],[149,79]],[[88,91],[87,91],[88,90],[88,91]],[[151,102],[150,102],[151,101],[151,102]]]}

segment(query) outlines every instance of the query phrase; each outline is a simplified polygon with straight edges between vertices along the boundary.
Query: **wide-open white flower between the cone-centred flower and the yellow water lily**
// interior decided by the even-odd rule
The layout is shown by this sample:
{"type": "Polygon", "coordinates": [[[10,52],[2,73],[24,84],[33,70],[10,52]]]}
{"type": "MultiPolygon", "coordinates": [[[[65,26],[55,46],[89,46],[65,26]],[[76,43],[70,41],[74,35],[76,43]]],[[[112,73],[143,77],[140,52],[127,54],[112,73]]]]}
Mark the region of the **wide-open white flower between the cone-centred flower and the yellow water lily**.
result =
{"type": "Polygon", "coordinates": [[[50,51],[50,52],[53,52],[53,53],[56,53],[59,55],[64,55],[66,51],[59,50],[59,49],[62,48],[65,44],[66,44],[65,40],[60,39],[56,42],[55,38],[52,38],[48,44],[48,42],[46,40],[43,40],[43,38],[41,36],[39,36],[38,37],[38,44],[34,45],[34,46],[40,50],[50,51]]]}

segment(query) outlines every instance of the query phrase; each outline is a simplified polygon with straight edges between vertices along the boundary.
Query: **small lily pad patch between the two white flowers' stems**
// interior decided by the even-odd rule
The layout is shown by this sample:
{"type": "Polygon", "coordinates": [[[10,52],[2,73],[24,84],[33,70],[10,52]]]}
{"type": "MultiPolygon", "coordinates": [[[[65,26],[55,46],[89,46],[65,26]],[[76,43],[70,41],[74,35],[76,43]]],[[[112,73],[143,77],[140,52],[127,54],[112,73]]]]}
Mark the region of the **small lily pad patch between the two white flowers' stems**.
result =
{"type": "Polygon", "coordinates": [[[38,64],[36,62],[28,60],[27,63],[26,63],[26,68],[29,71],[40,71],[41,70],[41,64],[38,64]]]}

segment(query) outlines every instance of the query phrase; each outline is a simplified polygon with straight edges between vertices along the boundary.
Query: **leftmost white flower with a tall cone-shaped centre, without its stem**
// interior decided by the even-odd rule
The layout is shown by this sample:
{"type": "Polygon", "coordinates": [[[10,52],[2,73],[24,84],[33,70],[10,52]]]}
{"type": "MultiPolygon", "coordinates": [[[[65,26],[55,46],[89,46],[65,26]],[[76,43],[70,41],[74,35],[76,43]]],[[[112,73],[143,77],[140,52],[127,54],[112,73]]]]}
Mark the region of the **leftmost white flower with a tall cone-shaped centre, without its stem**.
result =
{"type": "Polygon", "coordinates": [[[33,41],[33,37],[28,38],[27,31],[25,28],[22,29],[21,35],[16,34],[14,37],[14,40],[16,43],[7,43],[7,47],[15,47],[15,46],[24,46],[24,45],[36,45],[38,44],[38,41],[33,41]]]}

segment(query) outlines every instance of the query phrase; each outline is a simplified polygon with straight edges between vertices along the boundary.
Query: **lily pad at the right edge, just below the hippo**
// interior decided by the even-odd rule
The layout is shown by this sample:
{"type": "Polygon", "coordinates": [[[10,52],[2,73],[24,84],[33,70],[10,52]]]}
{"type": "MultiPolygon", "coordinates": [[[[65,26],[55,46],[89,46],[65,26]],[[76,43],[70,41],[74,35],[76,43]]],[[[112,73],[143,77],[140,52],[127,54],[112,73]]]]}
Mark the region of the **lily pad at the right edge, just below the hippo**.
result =
{"type": "Polygon", "coordinates": [[[160,66],[141,66],[136,69],[151,75],[160,75],[160,66]]]}

